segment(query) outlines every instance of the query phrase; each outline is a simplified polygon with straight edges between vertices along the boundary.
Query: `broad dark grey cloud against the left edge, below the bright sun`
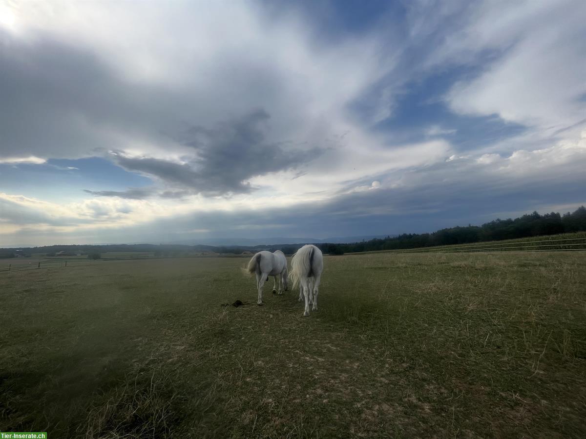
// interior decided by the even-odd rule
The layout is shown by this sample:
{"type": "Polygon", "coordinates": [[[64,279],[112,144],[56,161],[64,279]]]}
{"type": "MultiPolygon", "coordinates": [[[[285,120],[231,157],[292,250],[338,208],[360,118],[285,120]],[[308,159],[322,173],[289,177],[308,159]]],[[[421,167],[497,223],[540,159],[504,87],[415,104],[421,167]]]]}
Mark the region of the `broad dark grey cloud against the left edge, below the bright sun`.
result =
{"type": "Polygon", "coordinates": [[[83,157],[111,147],[108,128],[145,131],[153,119],[136,105],[153,90],[118,80],[91,52],[42,38],[35,44],[0,31],[0,155],[83,157]]]}

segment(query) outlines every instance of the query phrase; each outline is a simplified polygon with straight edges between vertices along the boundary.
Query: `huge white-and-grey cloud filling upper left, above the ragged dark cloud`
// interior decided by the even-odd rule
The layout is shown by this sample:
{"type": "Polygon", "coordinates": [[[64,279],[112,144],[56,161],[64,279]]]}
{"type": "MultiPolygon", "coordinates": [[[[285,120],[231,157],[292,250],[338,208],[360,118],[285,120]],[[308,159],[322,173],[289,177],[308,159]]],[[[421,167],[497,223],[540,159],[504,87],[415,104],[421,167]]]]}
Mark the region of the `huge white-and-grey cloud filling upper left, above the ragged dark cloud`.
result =
{"type": "Polygon", "coordinates": [[[323,118],[335,125],[379,74],[369,39],[318,44],[301,18],[253,4],[27,3],[15,13],[22,32],[0,30],[12,107],[2,147],[42,157],[177,159],[189,153],[176,140],[186,129],[255,108],[272,116],[268,143],[321,140],[332,134],[323,118]]]}

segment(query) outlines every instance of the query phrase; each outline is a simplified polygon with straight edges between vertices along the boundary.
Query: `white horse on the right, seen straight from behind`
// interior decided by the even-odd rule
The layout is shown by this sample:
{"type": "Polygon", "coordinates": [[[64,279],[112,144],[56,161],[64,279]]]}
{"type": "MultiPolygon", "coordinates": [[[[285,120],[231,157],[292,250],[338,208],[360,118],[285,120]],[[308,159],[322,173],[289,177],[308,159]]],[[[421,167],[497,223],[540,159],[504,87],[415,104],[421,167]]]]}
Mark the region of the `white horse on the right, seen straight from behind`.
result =
{"type": "Polygon", "coordinates": [[[299,301],[301,301],[301,291],[305,296],[305,312],[303,315],[309,315],[309,305],[313,303],[312,311],[318,309],[318,292],[319,281],[323,271],[323,255],[315,245],[307,244],[302,246],[291,261],[291,279],[293,287],[300,286],[299,301]]]}

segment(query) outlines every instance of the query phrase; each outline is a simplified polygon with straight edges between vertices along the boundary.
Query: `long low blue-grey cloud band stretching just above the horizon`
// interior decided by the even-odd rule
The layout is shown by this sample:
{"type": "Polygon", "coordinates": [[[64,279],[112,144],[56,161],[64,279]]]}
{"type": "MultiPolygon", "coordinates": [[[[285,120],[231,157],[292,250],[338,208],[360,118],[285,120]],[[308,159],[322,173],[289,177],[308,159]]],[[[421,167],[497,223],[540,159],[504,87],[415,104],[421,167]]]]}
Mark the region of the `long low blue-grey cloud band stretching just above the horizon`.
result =
{"type": "MultiPolygon", "coordinates": [[[[246,231],[250,238],[262,238],[278,231],[279,236],[327,238],[356,235],[356,231],[363,234],[364,230],[389,234],[433,231],[469,222],[481,224],[538,207],[551,210],[554,204],[574,210],[586,203],[581,190],[586,179],[583,173],[576,172],[584,164],[584,148],[574,145],[570,149],[572,152],[563,162],[544,163],[541,168],[534,165],[543,163],[548,155],[557,155],[554,149],[530,157],[501,157],[496,167],[479,162],[478,156],[435,163],[425,169],[386,174],[379,187],[372,183],[367,186],[370,190],[350,191],[320,202],[268,204],[261,209],[240,205],[233,209],[174,210],[164,217],[150,216],[148,221],[124,222],[120,218],[101,222],[108,214],[114,218],[114,208],[108,213],[107,205],[69,206],[80,212],[93,210],[93,223],[77,228],[54,225],[50,227],[50,238],[42,237],[47,227],[39,230],[36,225],[23,225],[19,231],[11,232],[11,239],[54,242],[62,241],[59,236],[83,236],[84,242],[156,243],[197,238],[202,231],[204,236],[216,237],[243,236],[246,231]],[[526,160],[521,172],[520,159],[526,160]],[[560,177],[568,163],[573,163],[571,172],[560,177]]],[[[149,215],[150,204],[132,206],[136,209],[133,215],[149,215]]]]}

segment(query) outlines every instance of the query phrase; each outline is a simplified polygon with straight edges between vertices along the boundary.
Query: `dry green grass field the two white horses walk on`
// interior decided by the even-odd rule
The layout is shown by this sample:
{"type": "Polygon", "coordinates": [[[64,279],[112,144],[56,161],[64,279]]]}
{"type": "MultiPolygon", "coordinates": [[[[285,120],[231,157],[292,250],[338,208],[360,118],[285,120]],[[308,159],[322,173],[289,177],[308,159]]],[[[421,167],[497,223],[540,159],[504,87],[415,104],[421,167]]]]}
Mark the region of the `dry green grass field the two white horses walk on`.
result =
{"type": "Polygon", "coordinates": [[[245,261],[2,273],[0,431],[586,437],[586,252],[326,256],[308,318],[245,261]]]}

